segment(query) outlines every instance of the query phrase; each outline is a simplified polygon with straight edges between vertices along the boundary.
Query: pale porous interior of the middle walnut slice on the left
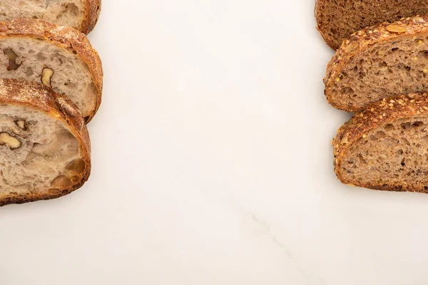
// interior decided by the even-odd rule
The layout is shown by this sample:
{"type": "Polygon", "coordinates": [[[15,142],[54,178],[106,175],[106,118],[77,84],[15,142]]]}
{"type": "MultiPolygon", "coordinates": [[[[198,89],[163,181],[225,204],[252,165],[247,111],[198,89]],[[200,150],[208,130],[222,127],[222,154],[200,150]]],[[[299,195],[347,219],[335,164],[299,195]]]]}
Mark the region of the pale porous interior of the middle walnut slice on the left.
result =
{"type": "MultiPolygon", "coordinates": [[[[76,51],[74,51],[76,52],[76,51]]],[[[96,108],[96,87],[91,73],[73,50],[61,48],[50,41],[16,36],[0,37],[0,78],[18,78],[41,83],[43,69],[51,68],[51,87],[67,95],[85,118],[96,108]],[[8,70],[9,57],[4,49],[11,48],[21,66],[8,70]]]]}

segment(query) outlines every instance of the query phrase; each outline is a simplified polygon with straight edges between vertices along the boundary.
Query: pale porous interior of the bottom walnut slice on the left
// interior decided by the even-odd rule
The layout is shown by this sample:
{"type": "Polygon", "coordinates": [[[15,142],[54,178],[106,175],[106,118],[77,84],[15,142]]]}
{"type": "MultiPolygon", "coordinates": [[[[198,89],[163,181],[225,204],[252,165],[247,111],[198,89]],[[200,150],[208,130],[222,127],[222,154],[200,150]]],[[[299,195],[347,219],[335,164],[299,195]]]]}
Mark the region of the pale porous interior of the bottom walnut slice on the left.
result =
{"type": "Polygon", "coordinates": [[[60,120],[24,106],[1,105],[0,133],[21,142],[14,150],[0,145],[0,197],[49,190],[61,175],[73,178],[66,165],[81,160],[81,150],[60,120]],[[16,120],[25,120],[27,130],[19,128],[16,120]]]}

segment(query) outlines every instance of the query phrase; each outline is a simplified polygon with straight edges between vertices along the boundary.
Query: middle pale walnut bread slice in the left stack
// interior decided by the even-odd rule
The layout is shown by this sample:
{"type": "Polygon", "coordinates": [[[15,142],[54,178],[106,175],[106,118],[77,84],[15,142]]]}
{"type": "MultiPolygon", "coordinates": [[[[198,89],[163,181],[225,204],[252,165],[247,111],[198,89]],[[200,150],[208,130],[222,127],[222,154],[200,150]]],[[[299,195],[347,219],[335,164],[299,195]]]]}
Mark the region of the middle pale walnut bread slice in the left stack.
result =
{"type": "Polygon", "coordinates": [[[51,86],[77,105],[86,123],[101,103],[103,69],[88,38],[45,21],[0,22],[0,78],[51,86]]]}

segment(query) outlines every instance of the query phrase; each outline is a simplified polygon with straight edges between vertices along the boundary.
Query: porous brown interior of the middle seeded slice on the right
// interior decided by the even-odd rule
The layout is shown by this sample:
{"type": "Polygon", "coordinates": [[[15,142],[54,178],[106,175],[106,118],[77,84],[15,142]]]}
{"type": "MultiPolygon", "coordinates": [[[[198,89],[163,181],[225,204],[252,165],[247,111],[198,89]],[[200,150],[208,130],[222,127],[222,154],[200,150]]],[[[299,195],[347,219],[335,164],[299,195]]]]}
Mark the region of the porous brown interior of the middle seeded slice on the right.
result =
{"type": "Polygon", "coordinates": [[[428,37],[374,44],[332,78],[333,105],[361,110],[394,95],[428,91],[428,37]]]}

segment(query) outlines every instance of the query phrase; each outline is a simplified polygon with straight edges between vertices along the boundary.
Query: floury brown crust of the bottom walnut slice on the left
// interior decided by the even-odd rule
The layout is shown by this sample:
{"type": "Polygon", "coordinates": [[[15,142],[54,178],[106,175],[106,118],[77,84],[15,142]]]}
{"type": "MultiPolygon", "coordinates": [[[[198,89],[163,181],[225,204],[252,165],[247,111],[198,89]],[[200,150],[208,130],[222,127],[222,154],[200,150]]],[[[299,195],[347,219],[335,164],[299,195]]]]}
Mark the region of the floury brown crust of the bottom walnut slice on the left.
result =
{"type": "Polygon", "coordinates": [[[22,204],[61,197],[77,190],[88,180],[91,173],[91,141],[86,124],[71,100],[65,95],[55,93],[41,83],[0,79],[1,105],[24,105],[46,113],[68,125],[68,130],[79,142],[80,158],[85,162],[86,169],[82,172],[80,180],[74,182],[71,187],[61,190],[47,189],[41,193],[0,196],[0,207],[6,204],[22,204]]]}

